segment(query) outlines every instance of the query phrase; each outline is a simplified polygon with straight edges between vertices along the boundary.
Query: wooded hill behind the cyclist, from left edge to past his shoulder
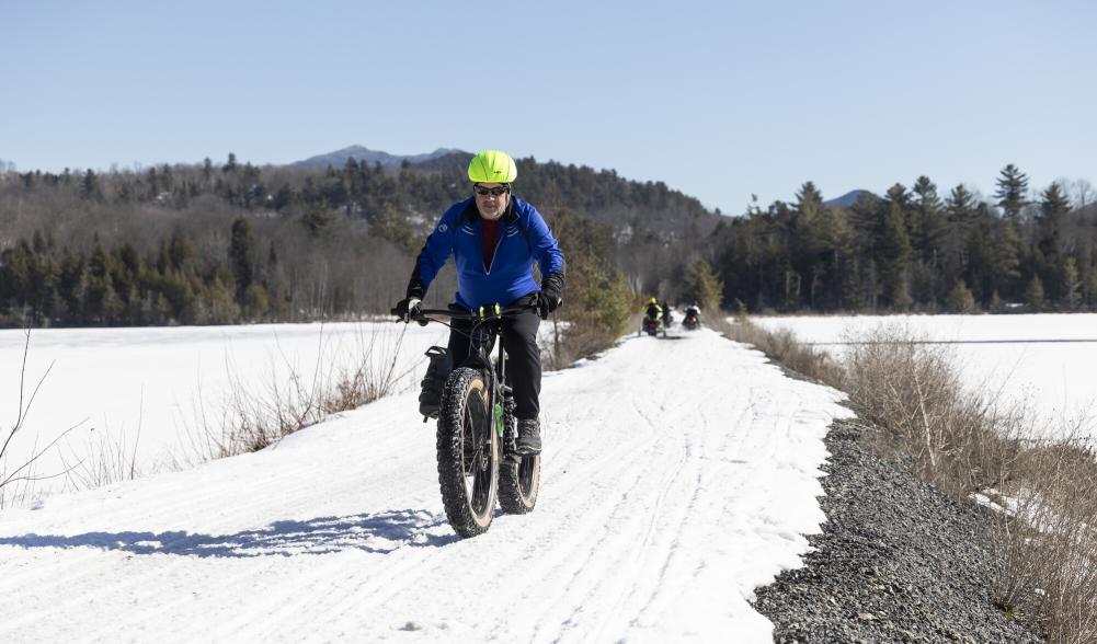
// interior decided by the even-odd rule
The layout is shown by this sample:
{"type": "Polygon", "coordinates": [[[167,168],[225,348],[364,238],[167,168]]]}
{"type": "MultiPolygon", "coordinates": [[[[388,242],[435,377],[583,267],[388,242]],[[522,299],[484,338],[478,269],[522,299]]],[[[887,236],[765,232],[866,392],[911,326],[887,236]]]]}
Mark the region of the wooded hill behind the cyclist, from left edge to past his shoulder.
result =
{"type": "MultiPolygon", "coordinates": [[[[440,161],[440,162],[439,162],[440,161]]],[[[97,173],[0,172],[0,325],[282,321],[385,313],[426,234],[467,196],[467,158],[386,170],[353,159],[315,170],[240,163],[97,173]]],[[[717,217],[659,182],[519,161],[519,196],[553,218],[577,203],[627,212],[652,244],[688,213],[717,217]]],[[[693,228],[699,228],[694,222],[693,228]]],[[[608,235],[612,240],[612,235],[608,235]]],[[[615,265],[614,245],[593,265],[615,265]]],[[[583,262],[580,261],[580,264],[583,262]]],[[[432,296],[453,294],[452,270],[432,296]]],[[[596,280],[597,284],[606,283],[596,280]]]]}

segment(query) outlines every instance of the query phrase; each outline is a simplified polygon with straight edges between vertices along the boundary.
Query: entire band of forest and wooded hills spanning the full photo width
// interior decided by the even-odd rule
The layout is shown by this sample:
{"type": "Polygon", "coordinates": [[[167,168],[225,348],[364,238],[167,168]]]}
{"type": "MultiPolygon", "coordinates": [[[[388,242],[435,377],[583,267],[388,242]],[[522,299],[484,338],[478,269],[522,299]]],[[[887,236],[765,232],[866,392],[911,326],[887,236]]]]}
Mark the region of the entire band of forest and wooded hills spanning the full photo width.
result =
{"type": "MultiPolygon", "coordinates": [[[[353,159],[316,170],[229,155],[220,165],[56,174],[9,165],[0,325],[385,313],[438,216],[467,196],[466,163],[459,154],[397,170],[353,159]]],[[[569,264],[591,273],[572,281],[588,302],[619,307],[623,285],[751,310],[1097,306],[1097,217],[1085,182],[1073,185],[1073,203],[1060,183],[1032,197],[1027,177],[1007,166],[993,202],[962,184],[941,195],[919,177],[845,208],[826,206],[807,182],[792,203],[722,217],[659,182],[534,159],[519,168],[516,194],[567,230],[569,264]]],[[[443,274],[432,296],[446,301],[452,282],[443,274]]]]}

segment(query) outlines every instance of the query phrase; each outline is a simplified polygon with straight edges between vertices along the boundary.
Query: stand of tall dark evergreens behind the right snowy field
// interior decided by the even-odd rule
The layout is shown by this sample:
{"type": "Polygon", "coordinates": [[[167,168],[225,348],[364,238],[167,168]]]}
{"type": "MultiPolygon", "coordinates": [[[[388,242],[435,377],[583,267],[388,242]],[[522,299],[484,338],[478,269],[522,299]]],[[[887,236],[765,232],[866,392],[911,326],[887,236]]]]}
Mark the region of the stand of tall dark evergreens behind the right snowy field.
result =
{"type": "Polygon", "coordinates": [[[927,177],[825,207],[812,182],[793,203],[721,225],[712,252],[726,301],[751,310],[1078,310],[1097,306],[1097,212],[1085,181],[1029,197],[1013,165],[988,203],[927,177]]]}

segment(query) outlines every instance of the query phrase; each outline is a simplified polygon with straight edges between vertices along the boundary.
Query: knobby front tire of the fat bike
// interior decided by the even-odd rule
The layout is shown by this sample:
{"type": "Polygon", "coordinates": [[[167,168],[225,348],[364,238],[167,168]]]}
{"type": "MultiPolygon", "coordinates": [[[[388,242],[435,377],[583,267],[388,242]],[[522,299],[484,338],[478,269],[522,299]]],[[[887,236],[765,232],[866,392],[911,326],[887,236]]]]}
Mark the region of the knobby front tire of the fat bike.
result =
{"type": "Polygon", "coordinates": [[[445,381],[438,418],[438,482],[445,516],[462,538],[491,526],[499,483],[499,439],[490,430],[484,377],[465,366],[445,381]],[[466,440],[478,436],[479,440],[466,440]],[[466,449],[470,448],[470,449],[466,449]],[[470,476],[467,473],[472,472],[470,476]]]}

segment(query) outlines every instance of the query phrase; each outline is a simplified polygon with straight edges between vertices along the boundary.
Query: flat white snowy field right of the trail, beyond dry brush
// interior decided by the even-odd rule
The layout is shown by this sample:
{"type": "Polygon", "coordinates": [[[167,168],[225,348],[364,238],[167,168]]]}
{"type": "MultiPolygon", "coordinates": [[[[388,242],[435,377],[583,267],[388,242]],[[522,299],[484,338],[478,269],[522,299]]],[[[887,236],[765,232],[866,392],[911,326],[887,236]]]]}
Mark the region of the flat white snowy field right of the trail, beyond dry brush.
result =
{"type": "Polygon", "coordinates": [[[751,317],[785,328],[840,357],[836,342],[856,341],[881,327],[948,342],[973,392],[999,393],[1028,405],[1049,432],[1081,425],[1097,437],[1097,315],[918,315],[751,317]]]}

